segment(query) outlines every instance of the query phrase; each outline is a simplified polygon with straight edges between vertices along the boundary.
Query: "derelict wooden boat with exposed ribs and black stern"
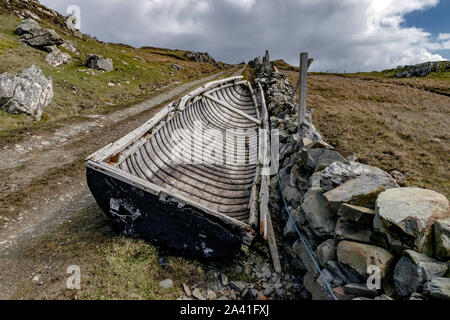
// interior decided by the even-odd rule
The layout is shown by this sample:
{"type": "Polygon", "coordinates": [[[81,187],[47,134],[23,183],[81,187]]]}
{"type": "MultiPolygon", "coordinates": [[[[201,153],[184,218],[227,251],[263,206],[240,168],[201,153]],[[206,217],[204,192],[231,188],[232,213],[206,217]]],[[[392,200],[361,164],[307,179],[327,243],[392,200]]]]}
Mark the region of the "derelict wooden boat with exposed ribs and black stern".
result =
{"type": "Polygon", "coordinates": [[[261,128],[268,128],[262,89],[242,77],[214,81],[91,155],[87,182],[118,232],[175,254],[226,259],[264,229],[261,128]]]}

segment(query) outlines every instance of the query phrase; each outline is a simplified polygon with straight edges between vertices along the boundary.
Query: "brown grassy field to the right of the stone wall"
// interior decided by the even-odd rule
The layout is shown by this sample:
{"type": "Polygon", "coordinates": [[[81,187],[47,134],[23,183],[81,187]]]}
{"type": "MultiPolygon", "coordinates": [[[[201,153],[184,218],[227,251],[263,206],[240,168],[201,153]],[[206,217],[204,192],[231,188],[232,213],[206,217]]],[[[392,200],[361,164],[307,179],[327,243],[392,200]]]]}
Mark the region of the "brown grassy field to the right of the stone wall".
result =
{"type": "MultiPolygon", "coordinates": [[[[297,81],[296,72],[285,73],[297,81]]],[[[308,105],[324,139],[345,156],[354,153],[362,163],[402,172],[410,186],[450,197],[450,98],[429,92],[433,77],[366,77],[310,75],[308,105]]],[[[450,82],[439,81],[450,90],[450,82]]]]}

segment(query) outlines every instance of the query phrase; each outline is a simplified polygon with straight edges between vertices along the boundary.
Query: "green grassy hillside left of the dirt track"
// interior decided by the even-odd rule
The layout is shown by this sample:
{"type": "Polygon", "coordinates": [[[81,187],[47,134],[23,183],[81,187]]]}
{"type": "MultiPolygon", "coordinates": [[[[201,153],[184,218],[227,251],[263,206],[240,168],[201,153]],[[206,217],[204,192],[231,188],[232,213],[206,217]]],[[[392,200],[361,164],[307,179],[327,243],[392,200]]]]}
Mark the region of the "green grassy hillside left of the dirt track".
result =
{"type": "Polygon", "coordinates": [[[104,43],[88,35],[71,32],[65,24],[65,17],[37,1],[1,0],[0,73],[16,73],[37,65],[45,76],[53,78],[55,95],[39,123],[34,123],[26,115],[12,116],[0,110],[0,137],[11,138],[24,130],[48,129],[80,117],[114,111],[161,93],[158,90],[168,86],[176,86],[226,67],[215,61],[191,61],[187,54],[182,50],[139,49],[104,43]],[[20,42],[14,31],[22,17],[34,17],[41,27],[55,30],[64,40],[74,41],[78,48],[76,53],[61,49],[71,55],[72,63],[52,67],[45,60],[46,52],[20,42]],[[114,71],[87,69],[88,53],[111,58],[114,71]]]}

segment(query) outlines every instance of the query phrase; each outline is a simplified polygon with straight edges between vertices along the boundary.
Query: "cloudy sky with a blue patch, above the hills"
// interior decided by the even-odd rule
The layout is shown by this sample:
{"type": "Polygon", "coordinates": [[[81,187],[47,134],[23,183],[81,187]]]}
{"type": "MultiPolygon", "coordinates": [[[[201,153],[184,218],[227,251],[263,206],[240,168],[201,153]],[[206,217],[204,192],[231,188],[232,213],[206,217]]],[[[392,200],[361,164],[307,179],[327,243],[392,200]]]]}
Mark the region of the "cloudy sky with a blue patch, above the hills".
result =
{"type": "Polygon", "coordinates": [[[41,0],[100,40],[356,72],[450,60],[450,0],[41,0]]]}

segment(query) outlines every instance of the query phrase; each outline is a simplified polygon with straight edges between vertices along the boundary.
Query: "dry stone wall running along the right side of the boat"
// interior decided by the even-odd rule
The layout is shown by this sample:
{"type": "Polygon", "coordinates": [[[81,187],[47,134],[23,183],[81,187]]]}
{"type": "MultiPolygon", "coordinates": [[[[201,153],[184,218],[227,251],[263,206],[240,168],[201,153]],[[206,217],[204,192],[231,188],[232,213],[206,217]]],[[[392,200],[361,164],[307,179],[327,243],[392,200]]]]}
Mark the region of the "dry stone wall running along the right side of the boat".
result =
{"type": "Polygon", "coordinates": [[[299,129],[293,86],[260,61],[252,64],[266,93],[272,129],[279,130],[283,196],[308,248],[288,219],[276,176],[270,210],[285,224],[286,262],[302,275],[312,298],[449,300],[448,199],[431,190],[400,188],[399,172],[392,174],[396,180],[343,157],[323,141],[311,110],[299,129]]]}

